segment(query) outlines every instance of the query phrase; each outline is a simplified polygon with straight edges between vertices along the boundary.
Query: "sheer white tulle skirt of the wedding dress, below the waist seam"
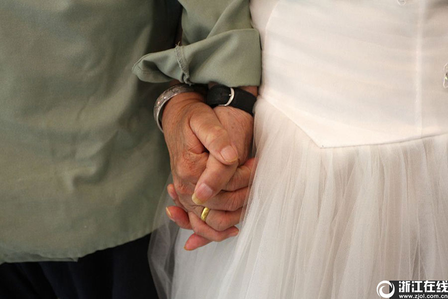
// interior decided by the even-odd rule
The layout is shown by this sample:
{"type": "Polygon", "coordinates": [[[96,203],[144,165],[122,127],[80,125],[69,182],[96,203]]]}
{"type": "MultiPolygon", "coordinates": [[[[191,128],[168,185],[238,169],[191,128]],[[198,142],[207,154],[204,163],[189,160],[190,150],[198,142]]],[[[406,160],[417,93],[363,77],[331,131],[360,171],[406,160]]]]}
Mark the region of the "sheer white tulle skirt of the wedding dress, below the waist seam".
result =
{"type": "Polygon", "coordinates": [[[237,237],[188,252],[164,216],[149,251],[161,298],[378,298],[383,280],[448,278],[448,135],[319,148],[266,101],[237,237]]]}

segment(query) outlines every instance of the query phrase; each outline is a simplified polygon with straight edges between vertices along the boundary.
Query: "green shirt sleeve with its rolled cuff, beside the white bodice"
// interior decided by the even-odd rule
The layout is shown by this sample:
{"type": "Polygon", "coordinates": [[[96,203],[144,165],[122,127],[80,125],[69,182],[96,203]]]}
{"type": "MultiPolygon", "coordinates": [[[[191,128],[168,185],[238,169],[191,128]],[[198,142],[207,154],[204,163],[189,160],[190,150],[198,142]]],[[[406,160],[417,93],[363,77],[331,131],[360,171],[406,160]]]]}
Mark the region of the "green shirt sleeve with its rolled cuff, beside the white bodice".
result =
{"type": "Polygon", "coordinates": [[[182,45],[140,58],[140,80],[259,85],[261,48],[250,23],[249,0],[179,0],[182,45]]]}

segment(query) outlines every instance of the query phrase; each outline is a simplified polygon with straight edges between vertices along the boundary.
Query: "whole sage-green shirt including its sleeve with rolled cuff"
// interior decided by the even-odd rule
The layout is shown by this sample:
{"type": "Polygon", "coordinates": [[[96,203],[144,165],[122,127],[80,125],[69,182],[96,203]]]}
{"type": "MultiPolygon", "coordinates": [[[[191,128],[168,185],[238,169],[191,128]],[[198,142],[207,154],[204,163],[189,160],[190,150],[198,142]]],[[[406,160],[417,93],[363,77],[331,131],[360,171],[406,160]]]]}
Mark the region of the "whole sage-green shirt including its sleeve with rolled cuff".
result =
{"type": "Polygon", "coordinates": [[[247,2],[1,0],[0,263],[151,231],[169,174],[154,101],[172,78],[259,84],[247,2]]]}

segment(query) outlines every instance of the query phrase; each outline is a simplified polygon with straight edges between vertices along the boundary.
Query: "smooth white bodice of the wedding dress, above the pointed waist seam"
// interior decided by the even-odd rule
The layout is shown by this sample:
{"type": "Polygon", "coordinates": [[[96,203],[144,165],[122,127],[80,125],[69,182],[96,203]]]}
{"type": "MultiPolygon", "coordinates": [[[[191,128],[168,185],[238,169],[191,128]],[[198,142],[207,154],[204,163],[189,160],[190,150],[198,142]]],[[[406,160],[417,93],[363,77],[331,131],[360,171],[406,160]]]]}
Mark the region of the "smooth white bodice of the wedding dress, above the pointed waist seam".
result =
{"type": "Polygon", "coordinates": [[[260,99],[318,146],[448,132],[448,0],[252,0],[251,12],[260,99]]]}

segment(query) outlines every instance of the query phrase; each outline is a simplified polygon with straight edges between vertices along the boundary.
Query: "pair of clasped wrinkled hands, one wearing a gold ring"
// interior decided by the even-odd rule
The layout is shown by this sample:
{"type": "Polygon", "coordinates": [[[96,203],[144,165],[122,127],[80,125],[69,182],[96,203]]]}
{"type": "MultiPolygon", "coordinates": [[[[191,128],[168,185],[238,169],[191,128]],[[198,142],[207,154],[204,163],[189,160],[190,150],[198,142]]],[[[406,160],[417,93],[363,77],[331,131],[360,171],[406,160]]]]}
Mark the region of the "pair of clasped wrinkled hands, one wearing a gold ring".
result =
{"type": "MultiPolygon", "coordinates": [[[[256,95],[256,87],[243,87],[256,95]]],[[[236,236],[254,159],[253,117],[237,108],[205,104],[197,92],[182,93],[165,106],[162,117],[173,184],[166,208],[178,226],[194,233],[185,243],[194,250],[236,236]],[[204,208],[210,208],[206,221],[204,208]]]]}

